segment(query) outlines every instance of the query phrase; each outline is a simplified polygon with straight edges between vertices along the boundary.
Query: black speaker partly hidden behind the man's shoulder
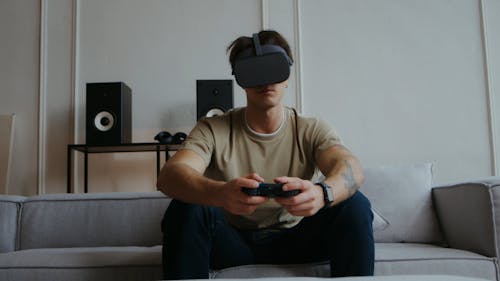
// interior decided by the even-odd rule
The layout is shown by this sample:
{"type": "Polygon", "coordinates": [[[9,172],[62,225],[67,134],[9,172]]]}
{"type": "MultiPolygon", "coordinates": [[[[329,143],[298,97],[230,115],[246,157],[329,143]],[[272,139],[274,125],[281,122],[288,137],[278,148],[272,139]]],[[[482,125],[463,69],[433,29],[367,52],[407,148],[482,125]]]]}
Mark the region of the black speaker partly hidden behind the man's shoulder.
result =
{"type": "Polygon", "coordinates": [[[233,108],[233,80],[196,80],[196,115],[222,115],[233,108]]]}

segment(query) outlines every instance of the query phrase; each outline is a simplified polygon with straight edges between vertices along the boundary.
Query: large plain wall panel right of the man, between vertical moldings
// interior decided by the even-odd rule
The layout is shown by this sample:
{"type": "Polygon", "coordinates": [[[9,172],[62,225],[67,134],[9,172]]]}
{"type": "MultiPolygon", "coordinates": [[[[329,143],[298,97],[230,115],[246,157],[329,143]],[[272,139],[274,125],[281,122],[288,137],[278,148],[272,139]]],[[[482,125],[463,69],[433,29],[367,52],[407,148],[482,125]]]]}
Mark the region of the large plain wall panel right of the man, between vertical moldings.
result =
{"type": "Polygon", "coordinates": [[[305,112],[368,166],[430,161],[437,182],[491,173],[477,1],[303,3],[305,112]]]}

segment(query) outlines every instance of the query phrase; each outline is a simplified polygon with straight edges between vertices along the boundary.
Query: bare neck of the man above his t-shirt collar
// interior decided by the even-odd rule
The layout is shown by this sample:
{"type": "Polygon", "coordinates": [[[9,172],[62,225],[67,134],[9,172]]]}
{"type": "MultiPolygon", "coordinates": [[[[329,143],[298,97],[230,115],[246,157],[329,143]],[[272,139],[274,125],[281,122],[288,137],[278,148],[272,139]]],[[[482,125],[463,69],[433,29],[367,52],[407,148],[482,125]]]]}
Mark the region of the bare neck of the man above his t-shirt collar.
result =
{"type": "Polygon", "coordinates": [[[246,121],[248,126],[257,133],[271,134],[276,132],[284,118],[283,105],[278,105],[265,110],[247,107],[246,121]]]}

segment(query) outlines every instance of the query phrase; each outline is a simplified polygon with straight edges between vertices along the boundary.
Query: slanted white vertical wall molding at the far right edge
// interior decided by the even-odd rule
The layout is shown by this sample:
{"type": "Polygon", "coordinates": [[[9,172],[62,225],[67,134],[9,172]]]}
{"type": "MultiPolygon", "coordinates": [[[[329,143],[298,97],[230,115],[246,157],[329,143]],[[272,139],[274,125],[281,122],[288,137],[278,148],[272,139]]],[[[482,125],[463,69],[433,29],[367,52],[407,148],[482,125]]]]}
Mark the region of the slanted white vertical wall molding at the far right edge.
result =
{"type": "Polygon", "coordinates": [[[497,132],[496,132],[496,108],[495,108],[495,100],[493,95],[493,89],[491,85],[493,74],[491,73],[490,67],[490,59],[489,59],[489,47],[488,47],[488,25],[486,20],[486,8],[485,1],[479,0],[479,18],[480,18],[480,26],[481,26],[481,43],[482,43],[482,51],[483,51],[483,72],[484,72],[484,82],[485,82],[485,91],[486,91],[486,108],[488,112],[488,126],[489,126],[489,135],[490,135],[490,162],[491,162],[491,174],[496,176],[499,173],[498,169],[498,150],[497,150],[497,132]]]}

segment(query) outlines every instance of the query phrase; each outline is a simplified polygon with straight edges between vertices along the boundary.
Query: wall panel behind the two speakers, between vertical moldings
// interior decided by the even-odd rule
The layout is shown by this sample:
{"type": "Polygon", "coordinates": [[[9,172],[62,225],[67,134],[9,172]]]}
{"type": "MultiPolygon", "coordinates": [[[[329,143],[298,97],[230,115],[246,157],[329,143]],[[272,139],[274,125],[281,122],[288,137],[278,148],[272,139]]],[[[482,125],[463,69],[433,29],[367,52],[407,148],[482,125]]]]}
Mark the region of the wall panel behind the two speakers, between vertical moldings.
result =
{"type": "MultiPolygon", "coordinates": [[[[237,36],[261,27],[260,1],[79,4],[77,139],[81,143],[87,82],[124,81],[132,88],[134,142],[153,141],[160,130],[188,132],[196,122],[196,80],[232,79],[226,47],[237,36]]],[[[235,105],[244,105],[243,91],[236,84],[234,89],[235,105]]],[[[90,185],[99,191],[155,189],[154,154],[99,157],[91,159],[89,170],[90,185]]]]}

